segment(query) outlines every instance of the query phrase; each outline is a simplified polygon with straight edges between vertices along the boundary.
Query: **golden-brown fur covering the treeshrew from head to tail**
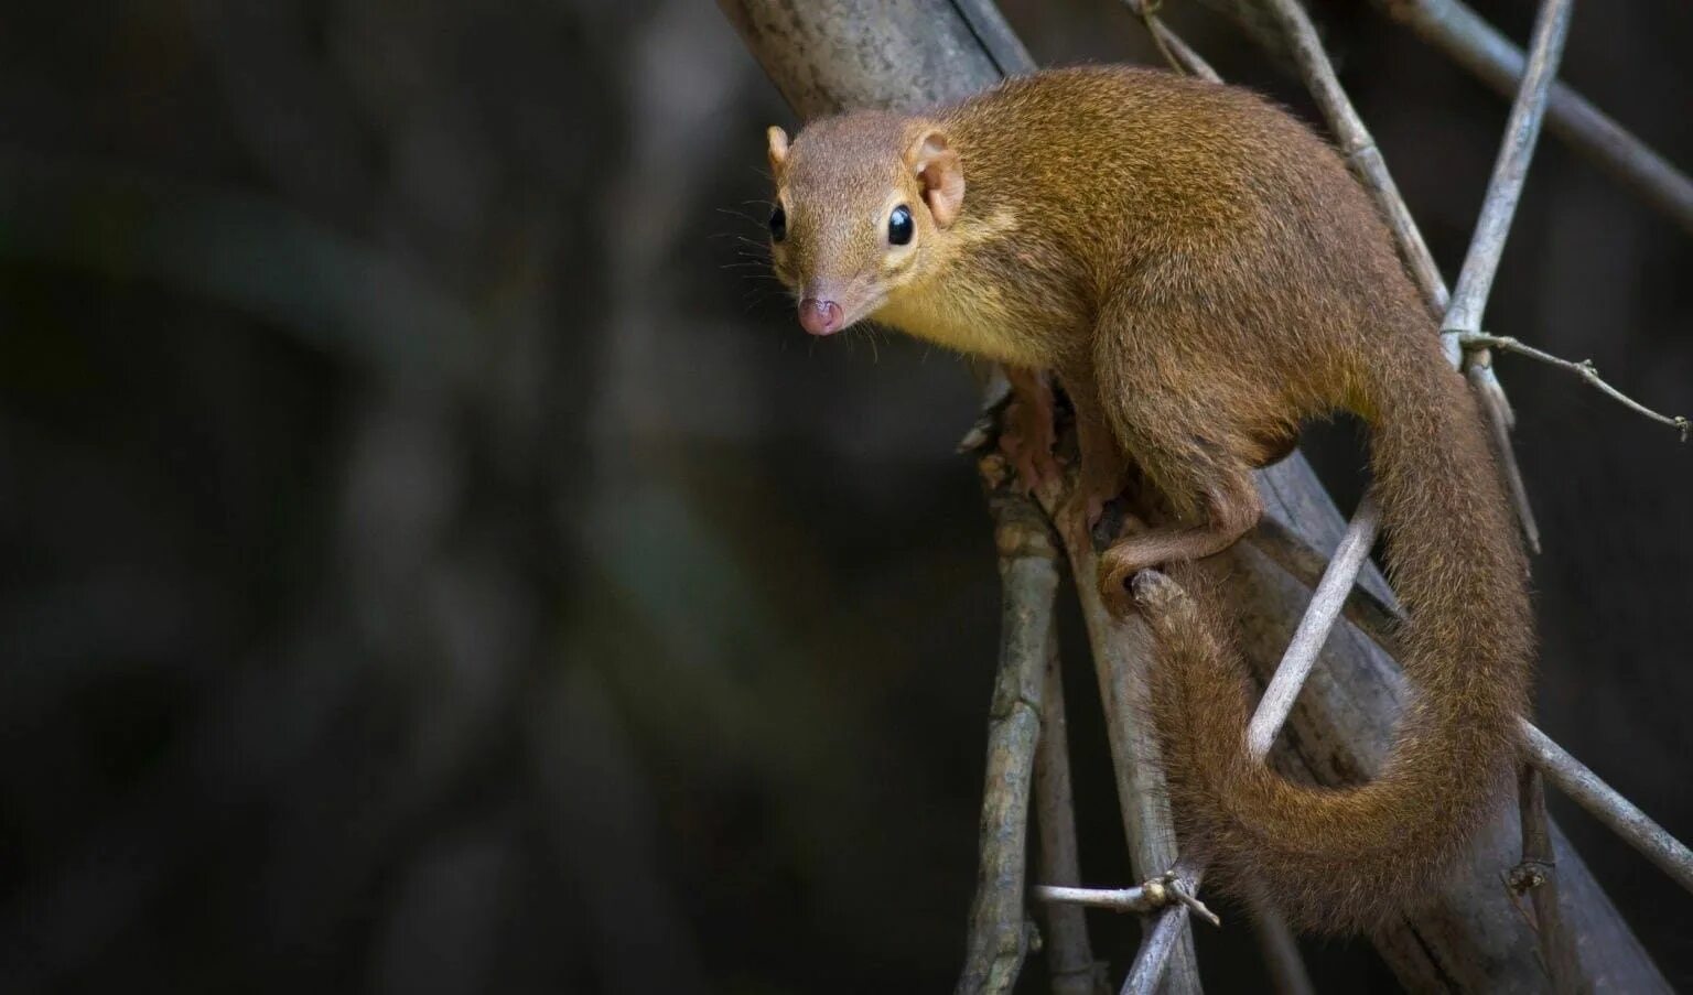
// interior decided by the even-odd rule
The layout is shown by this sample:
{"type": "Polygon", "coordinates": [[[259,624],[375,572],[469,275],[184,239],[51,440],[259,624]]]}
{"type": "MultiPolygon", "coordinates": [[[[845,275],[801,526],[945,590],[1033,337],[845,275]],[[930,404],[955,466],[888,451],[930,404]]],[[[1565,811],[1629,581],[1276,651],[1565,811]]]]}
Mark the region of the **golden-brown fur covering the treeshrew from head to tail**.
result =
{"type": "Polygon", "coordinates": [[[1476,404],[1339,156],[1246,90],[1089,68],[929,117],[821,120],[772,147],[772,166],[784,283],[840,301],[848,323],[1055,371],[1090,454],[1084,491],[1109,494],[1121,472],[1106,464],[1128,452],[1170,498],[1185,525],[1102,555],[1114,597],[1143,567],[1190,579],[1180,563],[1249,530],[1251,470],[1304,420],[1370,423],[1414,689],[1375,780],[1314,789],[1255,763],[1217,599],[1153,580],[1138,594],[1183,846],[1219,883],[1263,887],[1321,931],[1368,929],[1427,895],[1505,783],[1530,613],[1476,404]],[[923,206],[936,169],[918,176],[911,149],[926,135],[962,169],[950,223],[923,206]],[[894,203],[916,215],[907,247],[885,239],[894,203]]]}

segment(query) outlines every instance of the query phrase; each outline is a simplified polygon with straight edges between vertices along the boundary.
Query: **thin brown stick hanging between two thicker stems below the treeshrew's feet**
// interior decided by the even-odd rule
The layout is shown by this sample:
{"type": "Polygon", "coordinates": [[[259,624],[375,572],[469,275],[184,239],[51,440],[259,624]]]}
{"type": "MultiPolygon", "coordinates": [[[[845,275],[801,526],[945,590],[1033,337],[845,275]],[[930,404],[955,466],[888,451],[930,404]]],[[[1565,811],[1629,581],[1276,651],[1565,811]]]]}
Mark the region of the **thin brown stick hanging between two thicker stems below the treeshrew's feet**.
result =
{"type": "MultiPolygon", "coordinates": [[[[1040,880],[1077,885],[1082,880],[1075,846],[1075,802],[1070,792],[1070,745],[1065,721],[1058,641],[1046,657],[1041,692],[1041,739],[1034,748],[1034,817],[1040,826],[1040,880]]],[[[1053,995],[1094,995],[1104,987],[1102,965],[1094,963],[1087,919],[1075,905],[1046,905],[1046,970],[1053,995]]]]}

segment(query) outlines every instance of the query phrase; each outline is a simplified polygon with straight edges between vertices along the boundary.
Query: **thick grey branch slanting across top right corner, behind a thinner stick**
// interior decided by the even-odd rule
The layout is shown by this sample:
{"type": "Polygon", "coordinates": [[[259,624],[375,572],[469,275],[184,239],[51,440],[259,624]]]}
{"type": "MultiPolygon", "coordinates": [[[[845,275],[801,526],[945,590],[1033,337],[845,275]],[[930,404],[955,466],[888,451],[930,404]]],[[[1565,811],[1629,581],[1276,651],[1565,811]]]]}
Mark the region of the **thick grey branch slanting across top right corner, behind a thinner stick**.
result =
{"type": "MultiPolygon", "coordinates": [[[[1375,5],[1493,90],[1517,93],[1527,63],[1522,49],[1459,0],[1375,0],[1375,5]]],[[[1546,127],[1693,232],[1693,179],[1580,93],[1552,83],[1546,127]]]]}

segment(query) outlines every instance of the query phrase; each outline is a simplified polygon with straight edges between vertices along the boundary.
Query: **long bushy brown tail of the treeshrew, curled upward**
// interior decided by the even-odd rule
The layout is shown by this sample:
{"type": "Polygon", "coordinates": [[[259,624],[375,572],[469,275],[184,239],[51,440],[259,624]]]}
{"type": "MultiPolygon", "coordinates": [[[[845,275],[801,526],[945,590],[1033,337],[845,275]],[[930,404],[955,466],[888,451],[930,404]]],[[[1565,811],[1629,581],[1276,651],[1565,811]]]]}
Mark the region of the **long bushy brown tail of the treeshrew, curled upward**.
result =
{"type": "MultiPolygon", "coordinates": [[[[1432,338],[1432,337],[1431,337],[1432,338]]],[[[1420,344],[1419,344],[1420,345],[1420,344]]],[[[1371,931],[1431,897],[1505,797],[1532,623],[1514,513],[1463,377],[1434,350],[1373,376],[1375,496],[1412,699],[1370,783],[1283,780],[1246,750],[1244,667],[1197,570],[1136,591],[1158,645],[1155,721],[1185,851],[1295,926],[1371,931]]]]}

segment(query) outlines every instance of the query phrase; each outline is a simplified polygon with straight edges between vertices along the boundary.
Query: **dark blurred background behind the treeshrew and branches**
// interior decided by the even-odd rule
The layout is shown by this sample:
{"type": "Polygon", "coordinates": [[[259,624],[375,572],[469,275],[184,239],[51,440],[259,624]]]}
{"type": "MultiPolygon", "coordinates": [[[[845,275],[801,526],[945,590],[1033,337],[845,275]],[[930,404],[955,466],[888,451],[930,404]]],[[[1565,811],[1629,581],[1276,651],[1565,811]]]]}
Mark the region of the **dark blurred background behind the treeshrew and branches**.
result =
{"type": "MultiPolygon", "coordinates": [[[[1004,7],[1041,63],[1156,61],[1109,0],[1004,7]]],[[[1312,7],[1456,272],[1505,102],[1312,7]]],[[[1475,7],[1527,37],[1529,0],[1475,7]]],[[[1564,80],[1693,168],[1690,47],[1679,0],[1583,3],[1564,80]]],[[[796,328],[757,249],[772,122],[703,0],[0,8],[7,992],[951,985],[997,645],[973,389],[796,328]]],[[[1488,327],[1690,413],[1690,272],[1546,139],[1488,327]]],[[[1693,457],[1502,369],[1541,724],[1690,838],[1693,457]]],[[[1353,433],[1312,452],[1349,506],[1353,433]]],[[[1129,883],[1077,670],[1084,877],[1129,883]]],[[[1554,816],[1693,985],[1693,899],[1554,816]]],[[[1133,924],[1094,931],[1121,970],[1133,924]]],[[[1260,983],[1244,931],[1199,939],[1212,987],[1260,983]]]]}

